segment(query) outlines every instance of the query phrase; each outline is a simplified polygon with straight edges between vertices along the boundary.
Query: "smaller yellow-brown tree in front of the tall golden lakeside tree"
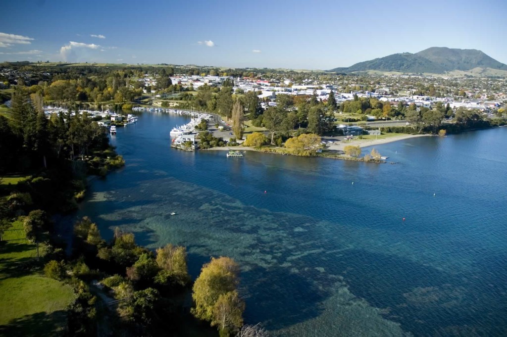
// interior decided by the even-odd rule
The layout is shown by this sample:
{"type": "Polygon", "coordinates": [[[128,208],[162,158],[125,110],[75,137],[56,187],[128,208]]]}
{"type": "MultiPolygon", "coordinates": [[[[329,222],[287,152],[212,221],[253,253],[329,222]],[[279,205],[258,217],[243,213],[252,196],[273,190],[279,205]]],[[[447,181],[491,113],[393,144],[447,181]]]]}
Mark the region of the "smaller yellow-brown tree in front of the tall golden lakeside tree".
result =
{"type": "Polygon", "coordinates": [[[218,326],[224,332],[239,330],[243,325],[244,310],[245,303],[236,290],[221,294],[213,307],[211,325],[218,326]]]}

